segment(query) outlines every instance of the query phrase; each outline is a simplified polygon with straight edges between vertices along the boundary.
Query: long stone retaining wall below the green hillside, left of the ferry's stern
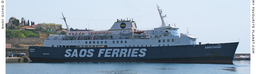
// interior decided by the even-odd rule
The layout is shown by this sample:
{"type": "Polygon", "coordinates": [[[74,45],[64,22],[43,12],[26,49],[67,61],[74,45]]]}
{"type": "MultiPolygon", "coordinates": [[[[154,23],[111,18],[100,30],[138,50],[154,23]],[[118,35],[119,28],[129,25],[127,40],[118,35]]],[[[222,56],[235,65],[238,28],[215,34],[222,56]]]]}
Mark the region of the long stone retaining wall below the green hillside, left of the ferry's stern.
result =
{"type": "Polygon", "coordinates": [[[38,38],[38,37],[13,37],[8,38],[6,37],[6,44],[26,44],[26,45],[32,45],[32,44],[43,44],[45,41],[45,38],[38,38]]]}

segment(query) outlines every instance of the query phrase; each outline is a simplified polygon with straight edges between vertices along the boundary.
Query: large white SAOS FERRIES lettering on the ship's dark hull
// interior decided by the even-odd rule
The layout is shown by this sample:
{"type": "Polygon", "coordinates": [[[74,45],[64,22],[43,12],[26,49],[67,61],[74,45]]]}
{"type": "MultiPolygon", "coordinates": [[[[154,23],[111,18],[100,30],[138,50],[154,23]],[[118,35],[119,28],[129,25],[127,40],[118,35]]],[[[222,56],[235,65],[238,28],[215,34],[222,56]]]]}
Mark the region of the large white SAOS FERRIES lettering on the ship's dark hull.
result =
{"type": "MultiPolygon", "coordinates": [[[[101,57],[101,54],[104,54],[104,57],[144,57],[146,55],[146,48],[129,48],[129,50],[125,48],[120,49],[99,49],[98,57],[101,57]]],[[[93,49],[81,49],[79,52],[77,49],[73,51],[71,49],[66,50],[65,57],[92,57],[93,49]],[[72,54],[71,54],[72,53],[72,54]],[[79,54],[78,54],[79,53],[79,54]]]]}

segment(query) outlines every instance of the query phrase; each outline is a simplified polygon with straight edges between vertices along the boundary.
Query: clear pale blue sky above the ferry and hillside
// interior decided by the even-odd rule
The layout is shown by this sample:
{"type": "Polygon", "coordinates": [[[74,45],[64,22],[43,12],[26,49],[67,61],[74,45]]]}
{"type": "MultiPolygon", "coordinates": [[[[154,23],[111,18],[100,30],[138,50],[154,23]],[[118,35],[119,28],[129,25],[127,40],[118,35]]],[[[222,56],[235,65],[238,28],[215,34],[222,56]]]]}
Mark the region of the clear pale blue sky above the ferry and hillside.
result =
{"type": "Polygon", "coordinates": [[[157,6],[166,24],[178,33],[197,37],[197,43],[240,42],[236,53],[250,53],[249,0],[7,0],[6,22],[21,21],[62,24],[69,28],[108,30],[116,19],[133,19],[139,30],[161,26],[157,6]]]}

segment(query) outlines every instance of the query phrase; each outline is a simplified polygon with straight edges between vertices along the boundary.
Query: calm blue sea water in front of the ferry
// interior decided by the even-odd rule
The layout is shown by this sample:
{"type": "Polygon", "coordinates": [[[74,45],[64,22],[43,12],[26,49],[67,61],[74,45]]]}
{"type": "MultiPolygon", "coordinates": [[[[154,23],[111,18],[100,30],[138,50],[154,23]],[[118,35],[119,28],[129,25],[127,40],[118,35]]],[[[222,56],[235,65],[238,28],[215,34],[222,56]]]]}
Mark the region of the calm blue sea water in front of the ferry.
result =
{"type": "Polygon", "coordinates": [[[250,74],[250,60],[233,63],[6,63],[6,74],[250,74]]]}

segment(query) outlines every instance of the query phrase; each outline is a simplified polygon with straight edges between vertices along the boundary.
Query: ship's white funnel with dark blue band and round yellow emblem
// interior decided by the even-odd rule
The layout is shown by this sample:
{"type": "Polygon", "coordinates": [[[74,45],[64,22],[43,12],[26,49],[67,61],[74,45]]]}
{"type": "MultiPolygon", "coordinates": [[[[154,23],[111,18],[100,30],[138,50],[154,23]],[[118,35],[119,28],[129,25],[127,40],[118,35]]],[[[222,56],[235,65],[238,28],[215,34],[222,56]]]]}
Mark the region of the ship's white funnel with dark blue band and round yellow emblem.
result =
{"type": "MultiPolygon", "coordinates": [[[[118,19],[117,19],[118,20],[118,19]]],[[[133,30],[136,29],[135,21],[116,21],[109,30],[133,30]]]]}

